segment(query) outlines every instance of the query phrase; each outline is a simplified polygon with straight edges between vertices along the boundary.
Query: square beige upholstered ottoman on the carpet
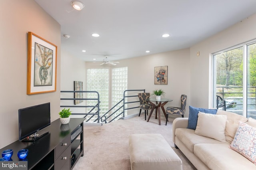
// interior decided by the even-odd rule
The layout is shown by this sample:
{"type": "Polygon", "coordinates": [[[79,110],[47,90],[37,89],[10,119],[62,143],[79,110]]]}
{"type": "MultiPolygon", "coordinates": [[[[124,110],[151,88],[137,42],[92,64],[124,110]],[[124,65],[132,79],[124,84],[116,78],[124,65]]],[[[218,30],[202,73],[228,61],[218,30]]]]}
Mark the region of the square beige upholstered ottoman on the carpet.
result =
{"type": "Polygon", "coordinates": [[[182,161],[162,134],[131,134],[132,170],[182,170],[182,161]]]}

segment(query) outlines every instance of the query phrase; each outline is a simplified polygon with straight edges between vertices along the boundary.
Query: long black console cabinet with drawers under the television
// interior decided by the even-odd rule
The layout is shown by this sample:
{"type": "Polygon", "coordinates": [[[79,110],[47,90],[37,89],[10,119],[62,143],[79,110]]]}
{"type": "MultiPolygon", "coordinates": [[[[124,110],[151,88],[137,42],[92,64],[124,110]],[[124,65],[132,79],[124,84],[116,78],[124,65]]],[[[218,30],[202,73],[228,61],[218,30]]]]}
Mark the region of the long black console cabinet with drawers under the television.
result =
{"type": "Polygon", "coordinates": [[[17,152],[28,149],[28,170],[70,170],[78,158],[84,155],[84,118],[71,118],[66,125],[60,119],[44,128],[49,133],[34,142],[15,141],[0,149],[12,149],[13,161],[19,161],[17,152]]]}

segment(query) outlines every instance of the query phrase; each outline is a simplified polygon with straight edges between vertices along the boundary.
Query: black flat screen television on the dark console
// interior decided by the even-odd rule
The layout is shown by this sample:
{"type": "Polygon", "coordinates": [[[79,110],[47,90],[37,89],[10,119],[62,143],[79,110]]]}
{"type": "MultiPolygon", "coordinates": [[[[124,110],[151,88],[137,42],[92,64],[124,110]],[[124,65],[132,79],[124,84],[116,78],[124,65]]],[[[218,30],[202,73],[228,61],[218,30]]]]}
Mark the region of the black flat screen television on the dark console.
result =
{"type": "Polygon", "coordinates": [[[18,109],[18,113],[20,141],[34,141],[48,133],[42,129],[51,124],[50,103],[18,109]]]}

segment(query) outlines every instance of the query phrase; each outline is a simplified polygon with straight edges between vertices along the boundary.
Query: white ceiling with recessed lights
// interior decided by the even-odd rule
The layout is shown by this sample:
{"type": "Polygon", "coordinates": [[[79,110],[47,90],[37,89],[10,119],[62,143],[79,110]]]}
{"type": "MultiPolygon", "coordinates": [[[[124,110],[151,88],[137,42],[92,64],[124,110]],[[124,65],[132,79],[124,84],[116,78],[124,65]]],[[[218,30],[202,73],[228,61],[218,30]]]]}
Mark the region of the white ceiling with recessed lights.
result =
{"type": "Polygon", "coordinates": [[[72,0],[35,1],[61,25],[61,48],[84,61],[191,47],[256,13],[256,0],[80,0],[81,11],[72,0]]]}

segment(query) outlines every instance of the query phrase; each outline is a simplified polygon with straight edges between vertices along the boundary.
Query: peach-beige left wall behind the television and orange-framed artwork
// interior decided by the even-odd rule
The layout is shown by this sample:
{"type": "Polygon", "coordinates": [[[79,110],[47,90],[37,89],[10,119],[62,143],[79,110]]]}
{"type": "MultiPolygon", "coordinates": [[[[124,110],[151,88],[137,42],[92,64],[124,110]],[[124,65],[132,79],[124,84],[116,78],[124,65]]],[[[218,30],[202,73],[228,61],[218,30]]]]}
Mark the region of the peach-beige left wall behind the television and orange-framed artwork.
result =
{"type": "Polygon", "coordinates": [[[1,0],[0,21],[2,148],[18,140],[18,109],[50,102],[51,121],[59,117],[61,47],[60,25],[33,0],[1,0]],[[26,95],[28,32],[58,46],[56,92],[26,95]]]}

